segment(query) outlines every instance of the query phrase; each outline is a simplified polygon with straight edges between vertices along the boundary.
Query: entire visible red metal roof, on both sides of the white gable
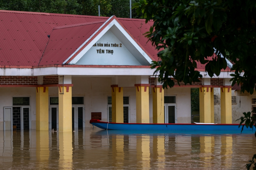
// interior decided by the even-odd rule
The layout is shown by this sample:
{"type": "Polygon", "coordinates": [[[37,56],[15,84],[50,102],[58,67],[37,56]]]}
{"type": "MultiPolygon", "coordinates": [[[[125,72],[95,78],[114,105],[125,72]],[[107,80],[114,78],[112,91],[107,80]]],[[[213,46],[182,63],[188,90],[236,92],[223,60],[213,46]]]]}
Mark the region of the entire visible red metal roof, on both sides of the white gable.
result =
{"type": "MultiPolygon", "coordinates": [[[[0,66],[62,64],[108,18],[0,10],[0,66]]],[[[158,51],[144,35],[153,21],[117,20],[152,60],[158,60],[158,51]]],[[[204,70],[203,64],[197,67],[204,70]]]]}

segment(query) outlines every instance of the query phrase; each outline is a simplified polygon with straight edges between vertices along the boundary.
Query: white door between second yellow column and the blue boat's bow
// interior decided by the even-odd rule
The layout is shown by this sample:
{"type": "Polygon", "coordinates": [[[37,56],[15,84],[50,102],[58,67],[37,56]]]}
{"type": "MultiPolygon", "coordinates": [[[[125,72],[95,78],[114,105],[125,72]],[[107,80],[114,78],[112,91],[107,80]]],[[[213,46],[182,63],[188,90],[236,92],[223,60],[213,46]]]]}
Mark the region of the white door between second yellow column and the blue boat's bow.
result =
{"type": "Polygon", "coordinates": [[[72,128],[85,127],[84,105],[72,105],[72,128]]]}

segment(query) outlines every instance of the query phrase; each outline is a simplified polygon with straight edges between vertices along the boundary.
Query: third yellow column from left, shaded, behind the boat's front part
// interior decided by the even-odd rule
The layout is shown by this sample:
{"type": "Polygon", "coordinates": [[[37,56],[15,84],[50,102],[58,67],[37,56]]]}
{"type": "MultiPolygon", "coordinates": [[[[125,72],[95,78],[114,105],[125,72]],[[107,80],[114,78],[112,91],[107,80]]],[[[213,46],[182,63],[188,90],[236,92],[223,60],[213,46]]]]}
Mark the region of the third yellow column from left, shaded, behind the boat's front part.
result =
{"type": "Polygon", "coordinates": [[[112,122],[123,123],[123,88],[111,85],[112,88],[112,122]]]}

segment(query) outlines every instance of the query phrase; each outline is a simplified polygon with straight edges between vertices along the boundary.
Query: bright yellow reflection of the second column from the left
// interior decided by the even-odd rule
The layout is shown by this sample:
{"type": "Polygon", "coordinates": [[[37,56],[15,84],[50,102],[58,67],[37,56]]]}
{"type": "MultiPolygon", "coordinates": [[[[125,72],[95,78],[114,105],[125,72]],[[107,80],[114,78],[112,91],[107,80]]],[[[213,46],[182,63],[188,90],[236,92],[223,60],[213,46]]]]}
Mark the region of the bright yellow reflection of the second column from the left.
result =
{"type": "Polygon", "coordinates": [[[59,132],[59,169],[72,169],[72,132],[59,132]]]}

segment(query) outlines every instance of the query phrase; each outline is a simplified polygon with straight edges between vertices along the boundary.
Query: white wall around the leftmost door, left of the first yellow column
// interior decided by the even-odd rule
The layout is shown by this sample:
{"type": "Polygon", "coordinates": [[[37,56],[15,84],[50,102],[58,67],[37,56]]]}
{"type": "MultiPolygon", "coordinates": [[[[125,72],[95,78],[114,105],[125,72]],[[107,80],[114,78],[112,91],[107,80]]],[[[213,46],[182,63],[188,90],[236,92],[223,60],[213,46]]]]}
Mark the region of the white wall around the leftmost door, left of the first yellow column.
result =
{"type": "Polygon", "coordinates": [[[1,87],[0,88],[0,130],[3,130],[3,107],[12,106],[12,97],[30,97],[31,128],[36,129],[36,88],[1,87]]]}

